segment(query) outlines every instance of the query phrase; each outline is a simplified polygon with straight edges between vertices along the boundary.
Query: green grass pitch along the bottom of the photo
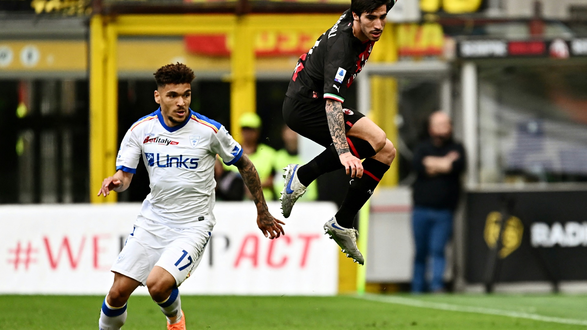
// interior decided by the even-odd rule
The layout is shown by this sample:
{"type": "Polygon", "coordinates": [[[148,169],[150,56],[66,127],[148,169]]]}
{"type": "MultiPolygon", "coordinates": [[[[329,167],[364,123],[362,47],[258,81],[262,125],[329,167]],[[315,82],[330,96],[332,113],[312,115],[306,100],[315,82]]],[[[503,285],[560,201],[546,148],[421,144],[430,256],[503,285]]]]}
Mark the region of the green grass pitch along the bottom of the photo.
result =
{"type": "MultiPolygon", "coordinates": [[[[375,297],[375,296],[369,296],[375,297]]],[[[375,298],[379,298],[377,296],[375,298]]],[[[584,295],[399,295],[423,304],[479,307],[587,324],[584,295]]],[[[103,297],[0,295],[0,329],[96,330],[103,297]]],[[[587,329],[528,318],[338,297],[182,296],[187,329],[587,329]]],[[[166,329],[158,306],[133,296],[124,330],[166,329]]]]}

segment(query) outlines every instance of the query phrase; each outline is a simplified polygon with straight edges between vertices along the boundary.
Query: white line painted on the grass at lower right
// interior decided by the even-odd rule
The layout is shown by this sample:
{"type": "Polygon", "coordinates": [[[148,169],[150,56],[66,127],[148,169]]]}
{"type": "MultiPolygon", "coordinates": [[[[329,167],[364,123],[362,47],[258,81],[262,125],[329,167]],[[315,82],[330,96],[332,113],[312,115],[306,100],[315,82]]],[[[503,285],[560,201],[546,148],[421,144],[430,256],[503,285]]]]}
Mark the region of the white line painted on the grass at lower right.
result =
{"type": "Polygon", "coordinates": [[[553,322],[553,323],[559,323],[559,324],[587,325],[587,320],[584,320],[584,319],[546,317],[544,315],[539,315],[539,314],[505,311],[504,309],[443,304],[441,302],[422,301],[422,300],[417,300],[417,299],[413,299],[413,298],[396,297],[396,296],[390,296],[390,295],[366,294],[363,296],[355,296],[355,297],[360,298],[360,299],[365,299],[365,300],[387,302],[389,304],[406,305],[406,306],[420,307],[420,308],[440,309],[442,311],[500,315],[503,317],[525,318],[525,319],[533,319],[534,321],[553,322]]]}

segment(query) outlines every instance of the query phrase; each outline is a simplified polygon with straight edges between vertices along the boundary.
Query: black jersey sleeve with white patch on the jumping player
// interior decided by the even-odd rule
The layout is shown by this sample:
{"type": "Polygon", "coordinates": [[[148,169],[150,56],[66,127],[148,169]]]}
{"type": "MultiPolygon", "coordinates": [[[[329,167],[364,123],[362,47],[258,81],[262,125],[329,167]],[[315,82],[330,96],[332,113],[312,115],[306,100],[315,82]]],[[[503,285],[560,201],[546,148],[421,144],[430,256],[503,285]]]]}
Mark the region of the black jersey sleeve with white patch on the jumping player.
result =
{"type": "Polygon", "coordinates": [[[353,74],[355,63],[348,53],[343,38],[338,38],[326,49],[324,58],[324,98],[345,101],[347,81],[353,74]]]}

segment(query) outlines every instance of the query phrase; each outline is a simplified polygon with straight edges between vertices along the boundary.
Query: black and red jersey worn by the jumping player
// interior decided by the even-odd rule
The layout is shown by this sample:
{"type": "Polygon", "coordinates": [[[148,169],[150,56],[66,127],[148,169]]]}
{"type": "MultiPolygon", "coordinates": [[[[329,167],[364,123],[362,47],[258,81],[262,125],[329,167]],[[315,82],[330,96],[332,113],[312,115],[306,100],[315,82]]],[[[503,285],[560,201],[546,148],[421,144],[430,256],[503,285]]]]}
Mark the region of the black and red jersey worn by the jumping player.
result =
{"type": "Polygon", "coordinates": [[[344,102],[346,91],[365,66],[374,44],[370,40],[361,42],[353,35],[353,13],[349,9],[299,58],[286,96],[344,102]]]}

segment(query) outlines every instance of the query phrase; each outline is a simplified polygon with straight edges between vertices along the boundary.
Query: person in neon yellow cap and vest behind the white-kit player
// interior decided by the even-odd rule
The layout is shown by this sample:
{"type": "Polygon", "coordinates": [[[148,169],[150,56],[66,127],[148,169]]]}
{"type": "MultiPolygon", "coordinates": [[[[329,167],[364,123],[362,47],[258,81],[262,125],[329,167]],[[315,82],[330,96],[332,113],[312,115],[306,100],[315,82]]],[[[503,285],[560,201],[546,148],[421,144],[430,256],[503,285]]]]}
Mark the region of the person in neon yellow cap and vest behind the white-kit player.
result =
{"type": "MultiPolygon", "coordinates": [[[[276,195],[273,191],[274,178],[274,159],[275,149],[266,144],[259,143],[259,135],[261,135],[261,118],[255,113],[245,113],[239,119],[241,126],[241,147],[242,151],[247,154],[251,162],[255,165],[259,178],[261,179],[261,186],[263,187],[263,195],[266,200],[275,200],[276,195]]],[[[235,166],[227,166],[222,164],[224,171],[233,171],[238,173],[238,168],[235,166]]],[[[222,177],[222,173],[218,173],[222,177]]],[[[245,195],[251,198],[251,193],[245,187],[245,195]]]]}

